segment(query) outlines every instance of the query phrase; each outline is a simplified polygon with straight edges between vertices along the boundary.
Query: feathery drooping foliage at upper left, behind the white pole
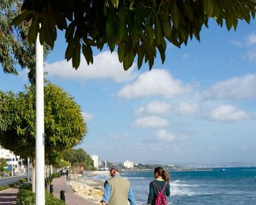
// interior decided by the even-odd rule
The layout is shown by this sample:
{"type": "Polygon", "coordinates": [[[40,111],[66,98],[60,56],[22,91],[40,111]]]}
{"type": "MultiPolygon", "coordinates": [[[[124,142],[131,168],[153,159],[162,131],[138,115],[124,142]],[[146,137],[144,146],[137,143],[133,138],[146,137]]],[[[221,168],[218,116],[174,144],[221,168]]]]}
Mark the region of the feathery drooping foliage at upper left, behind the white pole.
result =
{"type": "MultiPolygon", "coordinates": [[[[18,27],[11,26],[11,21],[21,13],[22,1],[0,1],[0,63],[7,74],[18,75],[17,67],[28,68],[28,78],[35,81],[36,48],[28,43],[30,22],[22,22],[18,27]]],[[[45,46],[45,54],[50,47],[45,46]]]]}

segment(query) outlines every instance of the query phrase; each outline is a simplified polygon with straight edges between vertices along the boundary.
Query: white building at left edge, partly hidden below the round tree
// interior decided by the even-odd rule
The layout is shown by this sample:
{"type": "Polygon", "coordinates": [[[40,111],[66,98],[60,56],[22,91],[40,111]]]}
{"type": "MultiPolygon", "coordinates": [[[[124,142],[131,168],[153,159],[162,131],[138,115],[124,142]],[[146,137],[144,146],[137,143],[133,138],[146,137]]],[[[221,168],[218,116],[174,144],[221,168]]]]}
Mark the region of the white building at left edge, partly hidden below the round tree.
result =
{"type": "Polygon", "coordinates": [[[22,163],[22,159],[19,156],[13,154],[10,150],[5,150],[0,147],[0,158],[4,158],[8,165],[8,170],[11,173],[25,172],[25,167],[22,163]]]}

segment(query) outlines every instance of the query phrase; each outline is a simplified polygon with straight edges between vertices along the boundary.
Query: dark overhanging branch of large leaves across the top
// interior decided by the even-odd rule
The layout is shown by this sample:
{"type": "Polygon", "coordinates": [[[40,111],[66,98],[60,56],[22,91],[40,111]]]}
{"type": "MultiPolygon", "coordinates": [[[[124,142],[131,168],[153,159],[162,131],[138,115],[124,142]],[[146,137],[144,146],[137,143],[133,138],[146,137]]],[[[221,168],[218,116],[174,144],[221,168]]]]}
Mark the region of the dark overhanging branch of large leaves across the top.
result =
{"type": "Polygon", "coordinates": [[[92,47],[110,51],[117,47],[124,69],[137,57],[151,69],[158,51],[165,61],[166,40],[175,46],[187,45],[188,39],[200,40],[203,26],[214,19],[222,27],[237,28],[238,20],[250,22],[255,17],[255,0],[24,0],[22,13],[13,25],[30,22],[28,40],[54,47],[57,28],[65,30],[66,60],[75,69],[80,64],[80,51],[86,62],[93,63],[92,47]],[[39,24],[41,27],[39,27],[39,24]]]}

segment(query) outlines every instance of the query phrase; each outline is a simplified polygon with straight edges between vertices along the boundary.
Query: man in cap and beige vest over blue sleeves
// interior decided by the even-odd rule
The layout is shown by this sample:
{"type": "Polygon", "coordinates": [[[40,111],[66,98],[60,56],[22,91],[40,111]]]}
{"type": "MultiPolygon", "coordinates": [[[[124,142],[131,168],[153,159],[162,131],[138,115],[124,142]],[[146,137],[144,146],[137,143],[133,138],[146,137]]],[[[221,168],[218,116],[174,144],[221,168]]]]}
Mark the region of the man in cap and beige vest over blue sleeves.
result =
{"type": "Polygon", "coordinates": [[[114,165],[110,168],[110,178],[104,183],[104,195],[101,205],[135,205],[130,181],[120,176],[121,167],[114,165]]]}

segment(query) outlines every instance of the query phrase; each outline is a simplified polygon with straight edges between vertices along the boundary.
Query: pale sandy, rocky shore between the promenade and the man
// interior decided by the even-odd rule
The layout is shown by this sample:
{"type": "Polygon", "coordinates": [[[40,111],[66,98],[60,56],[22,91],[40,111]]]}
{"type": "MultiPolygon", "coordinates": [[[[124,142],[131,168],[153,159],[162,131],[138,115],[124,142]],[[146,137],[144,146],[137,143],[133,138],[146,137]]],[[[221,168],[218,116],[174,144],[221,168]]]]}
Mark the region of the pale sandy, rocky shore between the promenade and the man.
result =
{"type": "Polygon", "coordinates": [[[109,171],[92,171],[87,173],[85,177],[71,175],[68,183],[78,195],[96,204],[101,204],[100,200],[102,200],[103,197],[104,181],[91,178],[95,175],[109,175],[109,171]]]}

